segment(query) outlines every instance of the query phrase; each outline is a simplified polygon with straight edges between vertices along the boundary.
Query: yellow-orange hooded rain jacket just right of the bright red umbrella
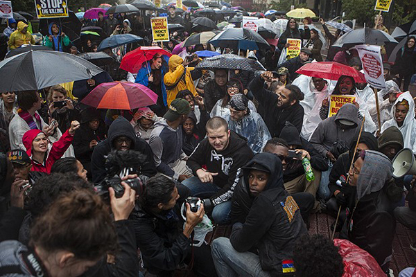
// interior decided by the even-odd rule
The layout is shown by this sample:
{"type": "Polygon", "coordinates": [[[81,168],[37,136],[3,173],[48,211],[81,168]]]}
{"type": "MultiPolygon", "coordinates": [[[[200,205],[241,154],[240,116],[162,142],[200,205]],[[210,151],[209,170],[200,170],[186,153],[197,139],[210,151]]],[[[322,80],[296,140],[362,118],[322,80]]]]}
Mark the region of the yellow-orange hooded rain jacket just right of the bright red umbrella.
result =
{"type": "Polygon", "coordinates": [[[196,89],[193,85],[191,77],[191,70],[193,70],[193,67],[187,67],[187,72],[184,74],[185,67],[182,65],[183,61],[182,57],[178,55],[173,55],[169,59],[169,72],[167,72],[164,76],[166,94],[168,96],[168,106],[171,105],[173,100],[175,100],[177,93],[179,91],[183,91],[184,89],[189,89],[193,96],[196,96],[196,89]],[[168,89],[175,84],[175,87],[168,89]]]}

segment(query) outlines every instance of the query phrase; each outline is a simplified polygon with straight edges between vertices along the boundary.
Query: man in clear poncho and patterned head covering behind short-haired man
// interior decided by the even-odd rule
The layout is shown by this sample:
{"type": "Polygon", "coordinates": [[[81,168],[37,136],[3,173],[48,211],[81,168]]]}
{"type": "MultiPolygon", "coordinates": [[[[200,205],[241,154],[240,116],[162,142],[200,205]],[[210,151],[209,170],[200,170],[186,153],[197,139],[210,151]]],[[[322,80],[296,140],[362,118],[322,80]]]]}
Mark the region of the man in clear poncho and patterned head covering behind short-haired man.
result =
{"type": "Polygon", "coordinates": [[[229,100],[229,113],[224,119],[230,130],[247,139],[247,144],[254,153],[261,152],[266,142],[271,139],[270,132],[263,118],[248,108],[248,98],[237,93],[229,100]]]}

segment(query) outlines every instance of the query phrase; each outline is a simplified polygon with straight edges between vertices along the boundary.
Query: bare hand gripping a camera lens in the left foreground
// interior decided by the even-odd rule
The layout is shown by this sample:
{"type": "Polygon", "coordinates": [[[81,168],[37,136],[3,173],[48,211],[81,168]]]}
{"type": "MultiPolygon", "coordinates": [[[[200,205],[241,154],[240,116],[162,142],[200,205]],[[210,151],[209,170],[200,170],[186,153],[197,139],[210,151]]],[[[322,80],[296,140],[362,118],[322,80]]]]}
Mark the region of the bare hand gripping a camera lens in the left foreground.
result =
{"type": "Polygon", "coordinates": [[[121,182],[121,185],[124,187],[124,194],[120,198],[116,198],[113,188],[108,188],[115,221],[127,220],[133,208],[135,208],[136,191],[132,190],[124,181],[121,182]]]}

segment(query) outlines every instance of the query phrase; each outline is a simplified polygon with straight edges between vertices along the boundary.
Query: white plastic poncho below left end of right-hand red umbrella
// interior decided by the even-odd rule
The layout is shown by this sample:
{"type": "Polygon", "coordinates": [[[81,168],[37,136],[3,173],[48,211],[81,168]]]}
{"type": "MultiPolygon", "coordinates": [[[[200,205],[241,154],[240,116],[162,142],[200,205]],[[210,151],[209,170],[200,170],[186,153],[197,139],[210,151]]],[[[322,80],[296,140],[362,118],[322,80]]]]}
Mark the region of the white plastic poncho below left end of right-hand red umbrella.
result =
{"type": "Polygon", "coordinates": [[[322,106],[322,100],[329,96],[329,87],[325,84],[322,91],[318,91],[315,89],[312,77],[306,75],[299,75],[292,84],[299,87],[300,91],[304,93],[304,100],[300,101],[300,105],[302,105],[305,111],[304,123],[300,135],[306,141],[309,141],[313,131],[322,122],[319,111],[322,106]]]}

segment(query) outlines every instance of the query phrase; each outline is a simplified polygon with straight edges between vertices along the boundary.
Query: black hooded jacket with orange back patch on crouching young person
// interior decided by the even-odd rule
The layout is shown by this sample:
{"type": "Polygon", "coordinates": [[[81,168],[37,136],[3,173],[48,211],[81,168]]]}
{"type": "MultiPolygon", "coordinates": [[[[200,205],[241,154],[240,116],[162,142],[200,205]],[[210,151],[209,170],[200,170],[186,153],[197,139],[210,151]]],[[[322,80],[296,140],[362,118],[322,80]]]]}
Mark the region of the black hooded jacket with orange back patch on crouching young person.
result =
{"type": "Polygon", "coordinates": [[[250,169],[243,170],[232,198],[233,228],[229,240],[236,251],[257,250],[261,268],[279,276],[282,260],[291,260],[295,240],[308,231],[295,200],[284,190],[279,158],[259,153],[247,166],[253,163],[271,174],[263,192],[253,197],[248,187],[250,169]]]}

